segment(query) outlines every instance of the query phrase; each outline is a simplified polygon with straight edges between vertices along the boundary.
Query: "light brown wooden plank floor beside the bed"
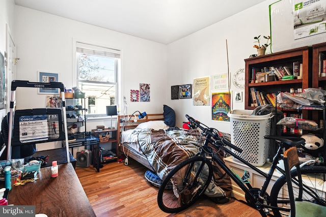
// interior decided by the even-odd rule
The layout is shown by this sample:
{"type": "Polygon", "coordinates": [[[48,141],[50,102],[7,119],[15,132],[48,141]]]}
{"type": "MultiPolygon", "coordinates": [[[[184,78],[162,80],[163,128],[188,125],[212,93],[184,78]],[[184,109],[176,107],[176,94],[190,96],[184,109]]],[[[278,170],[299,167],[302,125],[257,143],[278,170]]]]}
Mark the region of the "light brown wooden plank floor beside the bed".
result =
{"type": "Polygon", "coordinates": [[[146,167],[129,159],[129,165],[111,162],[100,172],[91,167],[76,167],[76,173],[98,217],[101,216],[260,216],[252,207],[231,199],[215,204],[200,199],[192,207],[179,213],[165,213],[157,206],[158,188],[144,177],[146,167]]]}

